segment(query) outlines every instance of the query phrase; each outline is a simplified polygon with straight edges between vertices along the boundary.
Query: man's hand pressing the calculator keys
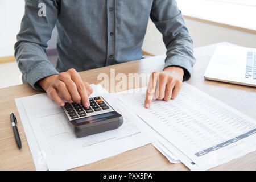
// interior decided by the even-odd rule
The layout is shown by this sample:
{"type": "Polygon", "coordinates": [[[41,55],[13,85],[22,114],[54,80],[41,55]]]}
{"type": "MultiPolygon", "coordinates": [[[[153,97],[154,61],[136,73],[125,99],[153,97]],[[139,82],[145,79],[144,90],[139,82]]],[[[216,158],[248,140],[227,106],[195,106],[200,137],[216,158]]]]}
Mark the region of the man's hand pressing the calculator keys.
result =
{"type": "Polygon", "coordinates": [[[88,82],[82,81],[79,73],[73,68],[59,75],[43,78],[38,84],[46,90],[49,98],[60,106],[65,105],[62,98],[69,103],[82,102],[85,107],[90,106],[88,96],[93,92],[92,87],[88,82]]]}

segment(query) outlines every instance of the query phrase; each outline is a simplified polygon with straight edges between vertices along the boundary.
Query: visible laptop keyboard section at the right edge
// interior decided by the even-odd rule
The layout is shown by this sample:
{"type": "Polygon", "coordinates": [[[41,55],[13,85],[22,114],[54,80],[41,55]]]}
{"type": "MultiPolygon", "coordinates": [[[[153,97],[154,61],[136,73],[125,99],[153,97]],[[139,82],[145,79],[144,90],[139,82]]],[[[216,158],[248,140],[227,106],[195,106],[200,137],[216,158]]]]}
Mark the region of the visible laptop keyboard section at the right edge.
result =
{"type": "Polygon", "coordinates": [[[247,53],[245,77],[256,79],[256,52],[247,53]]]}

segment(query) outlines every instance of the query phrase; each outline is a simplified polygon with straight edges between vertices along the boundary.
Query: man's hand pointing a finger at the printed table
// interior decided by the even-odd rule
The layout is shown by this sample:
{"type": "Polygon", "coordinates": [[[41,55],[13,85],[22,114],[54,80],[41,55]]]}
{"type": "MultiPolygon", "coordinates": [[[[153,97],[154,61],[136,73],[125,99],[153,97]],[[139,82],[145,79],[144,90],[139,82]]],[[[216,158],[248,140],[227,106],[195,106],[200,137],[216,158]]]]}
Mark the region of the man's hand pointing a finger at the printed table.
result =
{"type": "Polygon", "coordinates": [[[184,71],[180,67],[167,67],[162,72],[153,72],[148,83],[144,106],[149,108],[152,100],[169,101],[177,97],[182,87],[184,71]]]}

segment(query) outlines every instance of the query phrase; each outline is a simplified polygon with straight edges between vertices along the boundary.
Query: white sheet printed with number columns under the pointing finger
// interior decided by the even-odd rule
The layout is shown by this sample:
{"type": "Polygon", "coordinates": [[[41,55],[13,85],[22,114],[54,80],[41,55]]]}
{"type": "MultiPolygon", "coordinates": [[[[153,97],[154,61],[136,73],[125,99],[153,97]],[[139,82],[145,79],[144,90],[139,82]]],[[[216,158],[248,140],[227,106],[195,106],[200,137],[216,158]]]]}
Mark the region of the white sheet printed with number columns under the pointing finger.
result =
{"type": "Polygon", "coordinates": [[[190,169],[213,168],[256,150],[254,119],[189,84],[175,100],[153,101],[150,109],[144,108],[144,93],[119,98],[186,156],[174,151],[190,169]]]}

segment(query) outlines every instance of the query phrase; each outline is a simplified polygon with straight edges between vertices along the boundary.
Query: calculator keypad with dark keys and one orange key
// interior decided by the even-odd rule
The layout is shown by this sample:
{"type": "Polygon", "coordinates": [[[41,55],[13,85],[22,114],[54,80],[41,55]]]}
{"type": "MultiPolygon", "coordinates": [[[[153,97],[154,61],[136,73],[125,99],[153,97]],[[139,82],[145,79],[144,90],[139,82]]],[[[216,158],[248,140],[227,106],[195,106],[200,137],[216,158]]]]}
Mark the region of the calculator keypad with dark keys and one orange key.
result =
{"type": "Polygon", "coordinates": [[[92,115],[103,114],[114,111],[112,107],[102,97],[89,98],[90,106],[84,107],[81,104],[65,102],[63,110],[69,120],[89,117],[92,115]]]}

